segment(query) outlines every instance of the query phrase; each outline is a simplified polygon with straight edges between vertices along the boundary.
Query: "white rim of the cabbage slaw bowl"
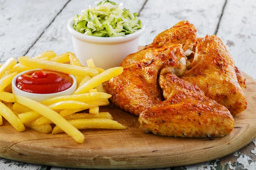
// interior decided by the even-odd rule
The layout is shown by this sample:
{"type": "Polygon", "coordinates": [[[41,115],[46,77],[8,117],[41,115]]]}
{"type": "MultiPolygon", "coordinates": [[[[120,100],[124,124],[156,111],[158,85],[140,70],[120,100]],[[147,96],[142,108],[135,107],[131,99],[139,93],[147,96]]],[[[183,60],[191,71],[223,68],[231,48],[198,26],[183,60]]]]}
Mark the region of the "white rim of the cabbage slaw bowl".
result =
{"type": "Polygon", "coordinates": [[[145,25],[143,22],[141,29],[135,31],[134,33],[121,36],[121,37],[95,37],[91,35],[82,34],[78,31],[76,31],[73,28],[74,18],[72,17],[68,23],[67,23],[67,29],[74,37],[78,38],[82,41],[88,41],[88,42],[95,42],[95,43],[120,43],[120,42],[127,42],[136,39],[137,37],[140,37],[140,35],[143,33],[145,29],[145,25]]]}

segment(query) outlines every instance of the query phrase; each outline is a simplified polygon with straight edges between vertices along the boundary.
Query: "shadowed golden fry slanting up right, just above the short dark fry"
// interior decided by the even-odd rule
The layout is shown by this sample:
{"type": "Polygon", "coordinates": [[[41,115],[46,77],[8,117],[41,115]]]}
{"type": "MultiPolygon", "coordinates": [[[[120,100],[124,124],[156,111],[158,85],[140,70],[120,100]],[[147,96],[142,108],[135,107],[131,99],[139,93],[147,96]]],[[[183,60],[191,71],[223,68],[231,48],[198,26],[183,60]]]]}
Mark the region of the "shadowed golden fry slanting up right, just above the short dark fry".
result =
{"type": "Polygon", "coordinates": [[[68,115],[71,115],[73,113],[77,113],[79,111],[83,111],[83,110],[86,110],[86,109],[89,109],[89,108],[95,108],[97,106],[105,106],[105,105],[108,105],[109,103],[103,102],[103,101],[92,101],[92,102],[86,102],[86,104],[89,105],[86,108],[66,109],[64,111],[61,111],[60,115],[61,116],[68,116],[68,115]]]}

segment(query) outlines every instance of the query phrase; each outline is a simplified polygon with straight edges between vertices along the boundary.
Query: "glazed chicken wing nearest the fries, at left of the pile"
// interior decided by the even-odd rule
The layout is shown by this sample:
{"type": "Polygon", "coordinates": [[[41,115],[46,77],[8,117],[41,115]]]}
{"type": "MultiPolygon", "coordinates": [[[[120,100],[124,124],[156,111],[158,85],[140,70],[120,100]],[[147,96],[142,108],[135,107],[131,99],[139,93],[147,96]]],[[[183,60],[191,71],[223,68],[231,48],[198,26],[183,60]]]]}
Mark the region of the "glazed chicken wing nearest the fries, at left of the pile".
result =
{"type": "Polygon", "coordinates": [[[181,57],[184,53],[180,44],[151,48],[140,62],[125,67],[122,74],[106,83],[112,103],[139,116],[142,111],[161,102],[157,78],[159,74],[173,71],[181,57]]]}

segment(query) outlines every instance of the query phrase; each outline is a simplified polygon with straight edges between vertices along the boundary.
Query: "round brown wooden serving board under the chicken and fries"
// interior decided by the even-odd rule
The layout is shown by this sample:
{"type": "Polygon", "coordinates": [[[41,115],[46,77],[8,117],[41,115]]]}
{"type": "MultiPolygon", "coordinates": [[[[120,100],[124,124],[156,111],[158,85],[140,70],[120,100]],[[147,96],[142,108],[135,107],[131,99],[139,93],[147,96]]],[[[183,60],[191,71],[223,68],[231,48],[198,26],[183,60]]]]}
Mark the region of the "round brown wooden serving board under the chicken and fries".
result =
{"type": "Polygon", "coordinates": [[[235,128],[222,138],[174,138],[139,130],[137,117],[113,105],[100,108],[126,130],[83,130],[76,143],[65,133],[52,135],[29,128],[17,132],[8,122],[0,126],[0,157],[59,167],[132,169],[195,164],[221,158],[256,138],[256,82],[244,74],[247,109],[235,118],[235,128]]]}

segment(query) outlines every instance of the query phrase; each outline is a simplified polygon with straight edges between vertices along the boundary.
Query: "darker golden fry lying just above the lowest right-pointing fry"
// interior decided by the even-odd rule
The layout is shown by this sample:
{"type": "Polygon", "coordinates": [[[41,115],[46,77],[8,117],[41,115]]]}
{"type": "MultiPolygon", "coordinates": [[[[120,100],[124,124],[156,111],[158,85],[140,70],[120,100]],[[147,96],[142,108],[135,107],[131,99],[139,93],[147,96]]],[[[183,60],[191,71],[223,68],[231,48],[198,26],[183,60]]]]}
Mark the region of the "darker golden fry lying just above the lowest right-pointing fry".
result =
{"type": "Polygon", "coordinates": [[[104,118],[104,119],[111,119],[113,117],[108,112],[99,112],[98,114],[89,114],[89,113],[74,113],[69,116],[64,117],[66,120],[74,120],[74,119],[97,119],[97,118],[104,118]]]}

